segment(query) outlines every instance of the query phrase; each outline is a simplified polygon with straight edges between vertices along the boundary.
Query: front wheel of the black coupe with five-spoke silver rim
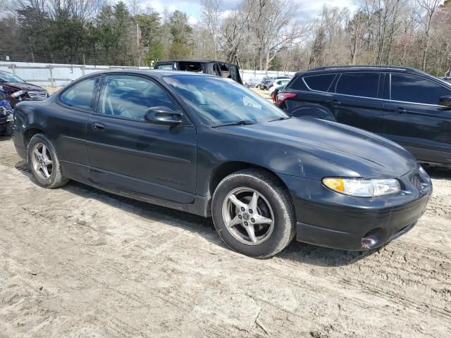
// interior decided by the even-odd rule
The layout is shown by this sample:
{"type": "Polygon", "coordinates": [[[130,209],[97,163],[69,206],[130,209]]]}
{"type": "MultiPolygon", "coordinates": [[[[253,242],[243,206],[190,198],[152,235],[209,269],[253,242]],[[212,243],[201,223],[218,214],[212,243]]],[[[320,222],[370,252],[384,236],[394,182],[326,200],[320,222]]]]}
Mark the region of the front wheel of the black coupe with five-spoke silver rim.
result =
{"type": "Polygon", "coordinates": [[[214,192],[211,214],[216,232],[230,249],[254,258],[276,255],[295,237],[295,212],[290,194],[265,170],[245,169],[224,178],[214,192]],[[257,214],[251,210],[255,192],[257,214]],[[269,218],[272,223],[261,224],[269,218]],[[254,229],[254,236],[249,228],[254,229]]]}

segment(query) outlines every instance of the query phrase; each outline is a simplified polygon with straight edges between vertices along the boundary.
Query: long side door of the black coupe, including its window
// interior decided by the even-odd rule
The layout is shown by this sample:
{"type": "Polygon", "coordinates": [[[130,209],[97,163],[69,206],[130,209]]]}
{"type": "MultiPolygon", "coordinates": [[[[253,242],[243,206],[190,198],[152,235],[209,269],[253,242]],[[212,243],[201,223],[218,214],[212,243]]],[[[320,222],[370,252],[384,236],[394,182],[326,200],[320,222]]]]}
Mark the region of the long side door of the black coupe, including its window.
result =
{"type": "Polygon", "coordinates": [[[89,117],[87,151],[92,180],[129,194],[192,203],[196,130],[184,115],[180,125],[144,120],[148,108],[182,111],[173,96],[147,77],[105,75],[97,111],[89,117]]]}

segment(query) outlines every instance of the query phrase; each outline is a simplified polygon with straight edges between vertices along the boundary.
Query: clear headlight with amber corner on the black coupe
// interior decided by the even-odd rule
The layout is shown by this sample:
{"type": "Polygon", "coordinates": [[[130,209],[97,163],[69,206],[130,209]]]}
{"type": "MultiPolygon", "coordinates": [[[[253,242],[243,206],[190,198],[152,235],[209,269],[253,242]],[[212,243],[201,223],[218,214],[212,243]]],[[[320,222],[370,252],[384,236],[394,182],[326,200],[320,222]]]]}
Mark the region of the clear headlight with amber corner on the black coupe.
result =
{"type": "Polygon", "coordinates": [[[323,178],[323,184],[335,192],[356,197],[374,197],[400,192],[398,180],[364,180],[361,178],[323,178]]]}

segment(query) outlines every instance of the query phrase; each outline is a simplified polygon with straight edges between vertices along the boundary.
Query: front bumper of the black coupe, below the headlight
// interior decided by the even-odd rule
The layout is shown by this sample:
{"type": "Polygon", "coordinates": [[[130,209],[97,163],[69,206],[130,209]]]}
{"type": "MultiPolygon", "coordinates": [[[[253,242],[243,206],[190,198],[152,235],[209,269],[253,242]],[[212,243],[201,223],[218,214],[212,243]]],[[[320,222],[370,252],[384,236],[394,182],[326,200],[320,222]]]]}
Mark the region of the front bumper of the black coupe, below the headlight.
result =
{"type": "Polygon", "coordinates": [[[426,211],[432,185],[417,189],[413,173],[399,180],[402,192],[371,199],[333,192],[321,181],[281,175],[290,188],[297,218],[297,241],[335,249],[373,249],[414,227],[426,211]],[[371,247],[362,242],[373,238],[371,247]]]}

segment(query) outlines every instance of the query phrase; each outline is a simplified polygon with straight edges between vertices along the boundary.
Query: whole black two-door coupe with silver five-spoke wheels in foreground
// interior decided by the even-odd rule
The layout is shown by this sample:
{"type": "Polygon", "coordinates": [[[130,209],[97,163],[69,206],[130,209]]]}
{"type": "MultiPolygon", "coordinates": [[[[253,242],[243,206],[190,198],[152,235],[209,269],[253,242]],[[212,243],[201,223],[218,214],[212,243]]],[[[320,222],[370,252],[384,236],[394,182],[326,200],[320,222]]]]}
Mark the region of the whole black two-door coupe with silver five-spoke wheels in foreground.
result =
{"type": "Polygon", "coordinates": [[[72,179],[211,215],[230,248],[257,258],[295,236],[381,246],[414,226],[432,190],[388,139],[289,118],[240,84],[195,73],[87,75],[47,101],[18,104],[13,142],[42,187],[72,179]]]}

